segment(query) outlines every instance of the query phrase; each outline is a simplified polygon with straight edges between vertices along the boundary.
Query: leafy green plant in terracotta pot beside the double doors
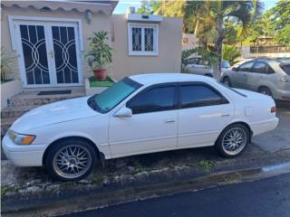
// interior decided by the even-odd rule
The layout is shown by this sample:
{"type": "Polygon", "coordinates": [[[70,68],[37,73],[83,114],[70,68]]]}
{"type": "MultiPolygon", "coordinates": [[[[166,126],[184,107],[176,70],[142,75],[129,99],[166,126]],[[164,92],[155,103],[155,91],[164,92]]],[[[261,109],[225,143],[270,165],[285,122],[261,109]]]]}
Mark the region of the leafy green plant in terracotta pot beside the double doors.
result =
{"type": "Polygon", "coordinates": [[[111,63],[111,47],[107,44],[107,32],[94,32],[89,38],[90,51],[87,52],[86,58],[92,68],[94,78],[96,80],[104,80],[106,78],[106,69],[104,68],[111,63]]]}

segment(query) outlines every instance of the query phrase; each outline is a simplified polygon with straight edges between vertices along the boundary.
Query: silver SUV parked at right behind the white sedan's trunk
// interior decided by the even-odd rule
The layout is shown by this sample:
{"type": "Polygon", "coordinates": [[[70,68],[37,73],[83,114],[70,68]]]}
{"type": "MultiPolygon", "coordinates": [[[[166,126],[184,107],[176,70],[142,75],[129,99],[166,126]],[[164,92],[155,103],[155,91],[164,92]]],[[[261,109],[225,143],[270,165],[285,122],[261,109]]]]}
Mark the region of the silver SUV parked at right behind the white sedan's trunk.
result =
{"type": "Polygon", "coordinates": [[[264,93],[290,101],[290,60],[255,59],[222,74],[227,86],[264,93]]]}

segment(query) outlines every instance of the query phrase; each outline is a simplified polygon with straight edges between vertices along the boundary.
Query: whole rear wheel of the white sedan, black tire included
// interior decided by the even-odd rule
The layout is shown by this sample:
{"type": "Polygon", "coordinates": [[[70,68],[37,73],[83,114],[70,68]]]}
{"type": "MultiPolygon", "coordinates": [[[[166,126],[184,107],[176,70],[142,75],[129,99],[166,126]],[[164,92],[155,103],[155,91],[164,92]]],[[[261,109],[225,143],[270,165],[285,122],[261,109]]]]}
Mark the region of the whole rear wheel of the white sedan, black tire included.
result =
{"type": "Polygon", "coordinates": [[[219,135],[216,147],[220,156],[232,158],[241,155],[250,142],[250,132],[242,124],[232,124],[219,135]]]}

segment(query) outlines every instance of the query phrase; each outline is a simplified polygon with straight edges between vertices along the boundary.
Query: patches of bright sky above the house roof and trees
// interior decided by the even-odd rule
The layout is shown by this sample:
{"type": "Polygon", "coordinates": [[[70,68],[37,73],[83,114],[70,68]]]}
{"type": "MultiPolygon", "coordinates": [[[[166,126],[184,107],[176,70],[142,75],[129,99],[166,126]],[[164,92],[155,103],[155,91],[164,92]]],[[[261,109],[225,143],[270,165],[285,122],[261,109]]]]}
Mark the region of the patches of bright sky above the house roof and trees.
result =
{"type": "MultiPolygon", "coordinates": [[[[113,14],[125,14],[129,7],[133,6],[136,9],[140,7],[141,0],[120,0],[116,6],[113,14]]],[[[265,4],[265,9],[268,10],[271,7],[275,6],[277,0],[263,0],[265,4]]]]}

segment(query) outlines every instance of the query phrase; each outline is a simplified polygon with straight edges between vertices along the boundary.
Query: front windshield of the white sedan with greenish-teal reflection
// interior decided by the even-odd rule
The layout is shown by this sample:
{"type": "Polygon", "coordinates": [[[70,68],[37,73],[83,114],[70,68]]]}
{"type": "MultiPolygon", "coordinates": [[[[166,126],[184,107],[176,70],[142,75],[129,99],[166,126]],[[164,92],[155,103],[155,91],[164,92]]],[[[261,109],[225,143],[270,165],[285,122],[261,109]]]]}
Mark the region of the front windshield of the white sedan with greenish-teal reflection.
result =
{"type": "Polygon", "coordinates": [[[115,83],[111,88],[103,90],[98,95],[93,95],[88,99],[88,105],[101,113],[107,113],[115,108],[123,99],[131,95],[132,92],[140,88],[140,83],[125,78],[115,83]]]}

